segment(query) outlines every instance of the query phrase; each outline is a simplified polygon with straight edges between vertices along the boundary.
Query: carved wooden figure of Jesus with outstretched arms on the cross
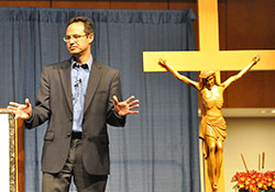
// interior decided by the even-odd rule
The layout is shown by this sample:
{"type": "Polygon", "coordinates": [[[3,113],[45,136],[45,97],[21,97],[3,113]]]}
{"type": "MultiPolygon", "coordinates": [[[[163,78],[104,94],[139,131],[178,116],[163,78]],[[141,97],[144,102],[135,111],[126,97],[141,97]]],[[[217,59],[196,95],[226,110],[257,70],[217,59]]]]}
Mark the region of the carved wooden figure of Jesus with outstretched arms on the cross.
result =
{"type": "Polygon", "coordinates": [[[223,159],[223,140],[227,137],[227,124],[221,112],[223,91],[232,82],[243,77],[258,60],[260,57],[254,57],[238,75],[231,76],[221,83],[217,82],[215,71],[200,71],[199,81],[197,82],[180,75],[170,65],[166,64],[166,60],[158,60],[158,64],[167,71],[170,71],[177,79],[195,87],[201,93],[206,113],[200,122],[199,137],[204,139],[204,157],[208,162],[208,176],[212,191],[218,191],[223,159]]]}

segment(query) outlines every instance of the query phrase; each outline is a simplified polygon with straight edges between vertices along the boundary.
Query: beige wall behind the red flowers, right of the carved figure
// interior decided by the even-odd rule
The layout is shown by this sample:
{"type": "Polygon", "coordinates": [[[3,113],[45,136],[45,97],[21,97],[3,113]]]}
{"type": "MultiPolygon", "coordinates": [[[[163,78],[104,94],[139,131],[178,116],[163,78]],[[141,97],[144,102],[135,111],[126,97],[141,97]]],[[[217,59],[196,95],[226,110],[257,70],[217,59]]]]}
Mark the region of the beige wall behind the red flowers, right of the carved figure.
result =
{"type": "Polygon", "coordinates": [[[265,169],[275,170],[275,117],[227,117],[228,137],[224,142],[226,192],[233,192],[231,178],[248,168],[258,170],[258,154],[265,151],[265,169]]]}

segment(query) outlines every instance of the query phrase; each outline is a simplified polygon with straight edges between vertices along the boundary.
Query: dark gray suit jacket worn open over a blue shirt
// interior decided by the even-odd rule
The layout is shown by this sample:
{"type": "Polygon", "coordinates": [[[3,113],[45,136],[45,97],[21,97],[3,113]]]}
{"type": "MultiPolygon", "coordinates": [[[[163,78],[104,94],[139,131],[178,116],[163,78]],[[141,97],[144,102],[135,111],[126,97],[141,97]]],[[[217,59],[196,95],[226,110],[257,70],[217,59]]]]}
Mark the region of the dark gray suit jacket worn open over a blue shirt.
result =
{"type": "MultiPolygon", "coordinates": [[[[73,127],[70,64],[70,60],[66,60],[44,68],[33,117],[29,122],[25,121],[28,128],[48,121],[42,155],[43,172],[59,172],[70,148],[73,127]]],[[[82,121],[82,161],[90,174],[110,172],[107,123],[113,126],[125,124],[124,117],[119,118],[114,114],[113,95],[122,100],[119,71],[94,60],[82,121]]]]}

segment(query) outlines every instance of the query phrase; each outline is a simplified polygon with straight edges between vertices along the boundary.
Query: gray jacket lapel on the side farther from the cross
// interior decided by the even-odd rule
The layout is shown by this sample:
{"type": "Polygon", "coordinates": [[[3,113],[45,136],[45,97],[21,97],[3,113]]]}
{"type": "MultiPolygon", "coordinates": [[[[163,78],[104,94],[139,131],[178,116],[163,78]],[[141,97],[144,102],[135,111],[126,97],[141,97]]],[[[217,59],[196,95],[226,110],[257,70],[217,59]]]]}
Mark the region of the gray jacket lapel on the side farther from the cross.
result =
{"type": "Polygon", "coordinates": [[[70,80],[70,59],[66,60],[61,69],[59,76],[62,79],[63,91],[65,93],[65,98],[67,100],[70,113],[73,113],[73,98],[72,98],[72,80],[70,80]]]}

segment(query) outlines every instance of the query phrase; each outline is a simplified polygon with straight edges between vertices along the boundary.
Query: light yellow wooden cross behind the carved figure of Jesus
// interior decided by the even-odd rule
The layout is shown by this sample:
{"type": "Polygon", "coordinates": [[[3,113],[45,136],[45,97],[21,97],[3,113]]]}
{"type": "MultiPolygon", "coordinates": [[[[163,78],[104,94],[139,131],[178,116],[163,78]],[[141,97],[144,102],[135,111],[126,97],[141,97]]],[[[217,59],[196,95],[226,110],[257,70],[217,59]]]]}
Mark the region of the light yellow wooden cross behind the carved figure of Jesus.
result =
{"type": "MultiPolygon", "coordinates": [[[[261,56],[261,63],[252,70],[275,70],[275,50],[220,50],[218,26],[218,0],[198,0],[199,47],[195,52],[144,52],[143,69],[145,72],[165,71],[158,65],[164,58],[177,71],[199,70],[241,70],[255,55],[261,56]]],[[[219,72],[218,72],[219,74],[219,72]]],[[[220,81],[220,79],[218,79],[220,81]]],[[[222,157],[223,159],[223,157],[222,157]]],[[[208,165],[205,160],[205,191],[215,191],[208,176],[208,165]]],[[[223,168],[218,183],[218,191],[224,191],[223,168]]]]}

